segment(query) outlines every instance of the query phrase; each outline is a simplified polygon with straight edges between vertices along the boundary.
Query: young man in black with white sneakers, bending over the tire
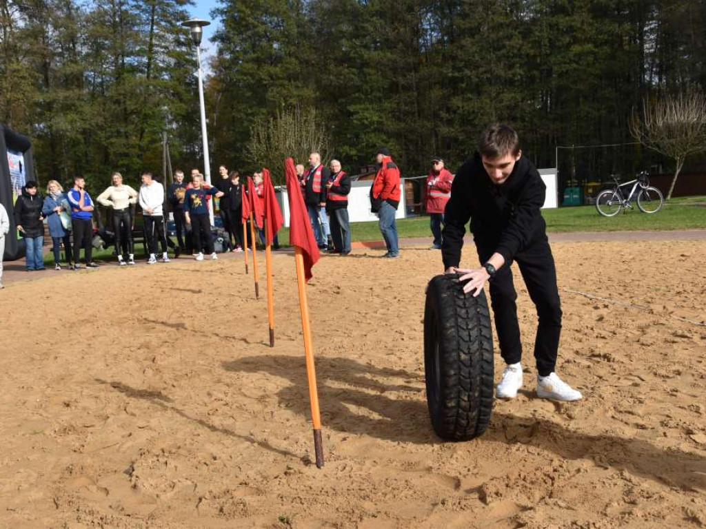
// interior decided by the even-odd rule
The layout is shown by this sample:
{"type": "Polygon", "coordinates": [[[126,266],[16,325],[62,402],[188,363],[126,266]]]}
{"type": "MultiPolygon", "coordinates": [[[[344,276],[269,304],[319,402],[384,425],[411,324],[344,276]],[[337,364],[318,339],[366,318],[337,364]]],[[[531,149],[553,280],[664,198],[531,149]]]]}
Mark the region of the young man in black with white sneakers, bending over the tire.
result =
{"type": "Polygon", "coordinates": [[[561,333],[561,303],[556,269],[539,209],[546,186],[530,160],[522,157],[517,133],[505,125],[487,128],[479,152],[458,170],[445,210],[442,255],[446,272],[459,272],[463,290],[478,296],[489,281],[491,305],[501,355],[507,363],[496,396],[513,399],[522,387],[522,345],[517,322],[517,293],[512,262],[517,262],[527,291],[537,307],[534,342],[537,396],[578,401],[581,394],[554,372],[561,333]],[[480,268],[461,269],[465,224],[471,220],[480,268]]]}

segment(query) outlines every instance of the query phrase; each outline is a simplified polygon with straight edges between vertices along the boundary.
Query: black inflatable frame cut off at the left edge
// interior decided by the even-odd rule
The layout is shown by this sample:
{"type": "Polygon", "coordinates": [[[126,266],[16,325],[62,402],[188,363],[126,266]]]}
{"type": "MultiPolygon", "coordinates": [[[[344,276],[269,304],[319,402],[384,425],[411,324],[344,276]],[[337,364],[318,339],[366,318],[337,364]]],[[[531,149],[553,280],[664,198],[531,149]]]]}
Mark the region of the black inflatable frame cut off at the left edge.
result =
{"type": "MultiPolygon", "coordinates": [[[[25,254],[24,241],[18,240],[15,216],[13,215],[14,200],[12,195],[12,182],[10,180],[10,164],[7,159],[7,151],[13,150],[21,152],[25,158],[25,178],[26,180],[36,180],[35,164],[32,159],[32,142],[29,138],[10,130],[8,126],[0,123],[0,203],[7,209],[10,217],[10,233],[5,238],[4,260],[13,261],[23,257],[25,254]]],[[[3,256],[0,256],[3,257],[3,256]]]]}

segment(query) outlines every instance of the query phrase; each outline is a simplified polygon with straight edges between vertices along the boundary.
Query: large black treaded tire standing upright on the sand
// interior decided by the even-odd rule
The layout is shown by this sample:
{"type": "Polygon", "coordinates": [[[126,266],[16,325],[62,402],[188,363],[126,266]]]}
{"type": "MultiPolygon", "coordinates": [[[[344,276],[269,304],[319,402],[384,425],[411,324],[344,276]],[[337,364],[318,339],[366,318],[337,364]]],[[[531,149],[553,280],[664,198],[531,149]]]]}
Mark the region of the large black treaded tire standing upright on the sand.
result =
{"type": "Polygon", "coordinates": [[[448,441],[483,434],[493,411],[493,333],[485,293],[465,294],[459,274],[429,281],[424,308],[426,401],[448,441]]]}

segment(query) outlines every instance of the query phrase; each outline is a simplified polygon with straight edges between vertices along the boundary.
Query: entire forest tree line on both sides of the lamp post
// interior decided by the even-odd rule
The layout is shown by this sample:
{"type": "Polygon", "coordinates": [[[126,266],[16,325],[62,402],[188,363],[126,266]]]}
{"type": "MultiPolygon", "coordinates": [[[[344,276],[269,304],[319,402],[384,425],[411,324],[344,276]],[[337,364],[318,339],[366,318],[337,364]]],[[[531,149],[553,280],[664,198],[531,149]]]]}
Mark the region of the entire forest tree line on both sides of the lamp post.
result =
{"type": "MultiPolygon", "coordinates": [[[[161,168],[163,130],[175,166],[198,164],[189,4],[0,4],[0,121],[30,135],[43,178],[134,181],[161,168]]],[[[261,162],[253,124],[297,106],[352,172],[382,145],[403,174],[433,154],[455,169],[491,121],[554,166],[556,145],[632,142],[643,97],[706,84],[703,0],[221,0],[213,17],[211,159],[234,169],[261,162]]],[[[640,145],[559,158],[564,179],[664,162],[640,145]]]]}

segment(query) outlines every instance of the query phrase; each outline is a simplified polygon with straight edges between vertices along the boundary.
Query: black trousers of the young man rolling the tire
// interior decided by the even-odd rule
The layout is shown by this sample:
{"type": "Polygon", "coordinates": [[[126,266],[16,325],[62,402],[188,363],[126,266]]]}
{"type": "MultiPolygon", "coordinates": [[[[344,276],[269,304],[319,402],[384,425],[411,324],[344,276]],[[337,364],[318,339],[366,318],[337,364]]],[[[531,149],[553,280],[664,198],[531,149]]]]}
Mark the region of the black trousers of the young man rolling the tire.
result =
{"type": "MultiPolygon", "coordinates": [[[[493,248],[478,248],[481,264],[493,255],[493,248]]],[[[556,268],[546,238],[532,243],[515,255],[527,292],[537,308],[539,324],[534,340],[537,371],[546,377],[554,371],[561,335],[561,302],[556,286],[556,268]]],[[[490,298],[495,315],[500,351],[505,363],[514,364],[522,358],[520,324],[517,322],[517,293],[513,284],[512,261],[506,262],[490,281],[490,298]]]]}

